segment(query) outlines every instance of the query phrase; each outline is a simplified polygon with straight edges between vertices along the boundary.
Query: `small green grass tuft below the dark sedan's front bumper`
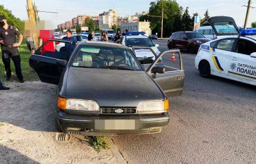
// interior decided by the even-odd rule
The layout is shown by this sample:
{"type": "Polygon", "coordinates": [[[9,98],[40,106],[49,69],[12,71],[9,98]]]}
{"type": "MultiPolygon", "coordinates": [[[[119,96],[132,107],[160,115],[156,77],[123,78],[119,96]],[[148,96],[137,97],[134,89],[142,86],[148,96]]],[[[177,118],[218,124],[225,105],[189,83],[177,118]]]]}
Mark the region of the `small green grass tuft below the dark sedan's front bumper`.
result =
{"type": "Polygon", "coordinates": [[[102,149],[109,149],[109,143],[106,137],[103,136],[91,136],[91,142],[93,147],[101,152],[102,149]]]}

